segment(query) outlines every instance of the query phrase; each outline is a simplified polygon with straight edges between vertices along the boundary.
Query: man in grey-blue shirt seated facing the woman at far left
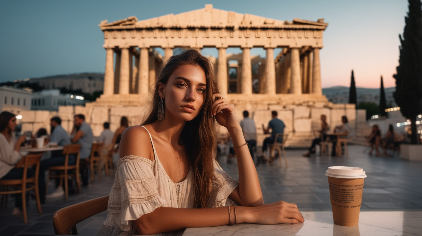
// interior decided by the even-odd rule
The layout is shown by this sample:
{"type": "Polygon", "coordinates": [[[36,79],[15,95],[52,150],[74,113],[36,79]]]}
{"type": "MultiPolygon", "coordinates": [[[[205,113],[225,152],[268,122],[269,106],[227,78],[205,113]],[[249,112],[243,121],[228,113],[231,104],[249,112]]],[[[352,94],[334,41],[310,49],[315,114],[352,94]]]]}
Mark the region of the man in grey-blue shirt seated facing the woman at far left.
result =
{"type": "MultiPolygon", "coordinates": [[[[62,119],[58,116],[54,116],[50,119],[51,126],[51,135],[47,138],[47,142],[55,142],[58,146],[69,145],[70,137],[68,132],[65,131],[62,127],[62,119]]],[[[76,156],[69,155],[68,165],[74,165],[76,161],[76,156]]],[[[65,191],[63,191],[62,185],[60,185],[60,179],[56,180],[56,190],[46,196],[46,182],[45,182],[45,171],[51,166],[63,166],[65,164],[65,155],[62,154],[62,150],[51,151],[51,158],[41,161],[40,164],[40,173],[38,177],[38,188],[40,194],[40,201],[43,204],[47,198],[55,198],[63,196],[65,191]],[[60,186],[59,186],[60,185],[60,186]]],[[[47,184],[48,184],[47,180],[47,184]]]]}

